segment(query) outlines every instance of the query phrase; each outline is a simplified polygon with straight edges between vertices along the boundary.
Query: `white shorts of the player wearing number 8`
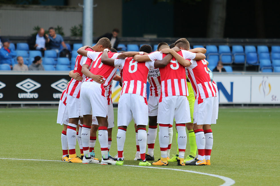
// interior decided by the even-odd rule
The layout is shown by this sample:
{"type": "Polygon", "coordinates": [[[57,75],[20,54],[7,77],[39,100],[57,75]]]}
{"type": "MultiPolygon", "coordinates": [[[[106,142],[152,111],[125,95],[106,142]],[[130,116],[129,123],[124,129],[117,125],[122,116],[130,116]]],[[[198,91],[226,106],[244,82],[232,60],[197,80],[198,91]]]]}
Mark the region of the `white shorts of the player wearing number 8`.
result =
{"type": "Polygon", "coordinates": [[[118,105],[118,126],[128,126],[131,120],[136,125],[148,125],[148,105],[138,94],[122,94],[118,105]]]}

